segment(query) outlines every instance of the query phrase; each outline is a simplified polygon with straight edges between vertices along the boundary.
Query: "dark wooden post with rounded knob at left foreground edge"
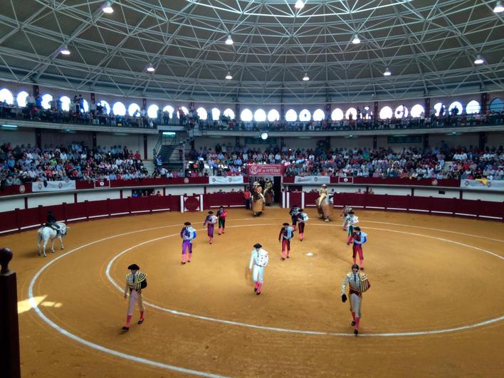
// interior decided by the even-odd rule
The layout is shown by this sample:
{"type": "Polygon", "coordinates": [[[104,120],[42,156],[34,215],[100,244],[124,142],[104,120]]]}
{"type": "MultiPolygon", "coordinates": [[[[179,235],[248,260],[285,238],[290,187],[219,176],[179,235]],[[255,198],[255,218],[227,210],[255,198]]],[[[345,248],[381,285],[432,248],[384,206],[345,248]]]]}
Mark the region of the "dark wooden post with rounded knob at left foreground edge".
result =
{"type": "Polygon", "coordinates": [[[9,271],[12,251],[0,249],[0,340],[4,352],[0,353],[2,377],[20,378],[18,295],[16,273],[9,271]]]}

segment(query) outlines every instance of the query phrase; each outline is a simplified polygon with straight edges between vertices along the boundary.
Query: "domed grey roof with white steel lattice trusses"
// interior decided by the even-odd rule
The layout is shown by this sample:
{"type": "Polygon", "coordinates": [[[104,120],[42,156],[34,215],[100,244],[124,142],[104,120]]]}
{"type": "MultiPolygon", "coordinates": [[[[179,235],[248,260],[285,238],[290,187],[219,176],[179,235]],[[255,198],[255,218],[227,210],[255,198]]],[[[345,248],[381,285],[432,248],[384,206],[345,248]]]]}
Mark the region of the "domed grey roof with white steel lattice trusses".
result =
{"type": "Polygon", "coordinates": [[[211,103],[504,89],[493,0],[115,0],[110,14],[104,3],[5,1],[0,79],[211,103]]]}

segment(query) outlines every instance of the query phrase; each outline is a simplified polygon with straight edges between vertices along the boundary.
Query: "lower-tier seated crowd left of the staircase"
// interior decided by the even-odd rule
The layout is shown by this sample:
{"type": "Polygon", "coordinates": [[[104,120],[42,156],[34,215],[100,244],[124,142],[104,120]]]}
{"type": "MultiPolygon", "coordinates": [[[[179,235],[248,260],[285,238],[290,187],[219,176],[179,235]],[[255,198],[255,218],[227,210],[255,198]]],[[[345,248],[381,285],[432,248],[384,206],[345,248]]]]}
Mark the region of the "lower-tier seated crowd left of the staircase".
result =
{"type": "Polygon", "coordinates": [[[1,185],[28,182],[94,179],[141,179],[148,176],[140,153],[127,147],[113,146],[92,149],[84,142],[70,146],[49,146],[4,143],[0,147],[1,185]]]}

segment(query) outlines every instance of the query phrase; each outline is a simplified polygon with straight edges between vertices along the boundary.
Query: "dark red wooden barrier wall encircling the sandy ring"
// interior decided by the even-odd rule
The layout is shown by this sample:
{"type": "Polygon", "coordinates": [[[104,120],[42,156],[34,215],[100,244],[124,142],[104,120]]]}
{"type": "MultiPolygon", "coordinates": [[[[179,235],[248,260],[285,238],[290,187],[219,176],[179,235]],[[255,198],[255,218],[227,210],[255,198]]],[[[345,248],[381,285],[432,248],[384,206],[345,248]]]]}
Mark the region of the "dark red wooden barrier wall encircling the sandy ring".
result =
{"type": "MultiPolygon", "coordinates": [[[[289,193],[290,205],[301,205],[301,193],[289,193]]],[[[317,193],[305,194],[305,207],[315,206],[317,193]]],[[[379,194],[340,193],[333,196],[335,206],[350,204],[357,209],[384,209],[419,211],[428,214],[474,216],[504,221],[504,202],[471,201],[420,196],[392,196],[379,194]]],[[[224,206],[243,206],[242,193],[204,194],[204,209],[224,206]]],[[[56,219],[75,221],[100,216],[114,216],[152,212],[156,210],[180,211],[180,196],[149,196],[127,199],[84,201],[77,204],[38,206],[33,209],[15,209],[0,213],[0,233],[40,226],[52,210],[56,219]]]]}

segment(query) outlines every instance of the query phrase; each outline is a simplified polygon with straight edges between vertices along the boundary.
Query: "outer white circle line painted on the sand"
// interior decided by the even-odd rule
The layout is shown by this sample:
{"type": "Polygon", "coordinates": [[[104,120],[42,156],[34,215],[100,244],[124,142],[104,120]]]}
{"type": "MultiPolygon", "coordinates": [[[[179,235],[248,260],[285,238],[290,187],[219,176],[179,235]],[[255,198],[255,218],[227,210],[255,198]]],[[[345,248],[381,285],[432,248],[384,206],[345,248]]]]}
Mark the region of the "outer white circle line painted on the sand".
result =
{"type": "MultiPolygon", "coordinates": [[[[172,226],[175,226],[175,225],[172,225],[172,226]]],[[[74,335],[73,333],[68,332],[63,327],[57,325],[51,319],[49,319],[48,317],[46,317],[46,315],[44,315],[44,313],[41,311],[41,309],[38,308],[38,303],[35,300],[35,298],[33,298],[33,286],[35,285],[36,280],[41,275],[41,273],[43,273],[43,271],[45,271],[53,263],[55,263],[56,261],[60,260],[61,258],[65,257],[65,256],[68,256],[70,253],[73,253],[73,252],[78,251],[78,250],[80,250],[82,248],[91,246],[91,245],[93,245],[95,243],[100,243],[102,241],[110,240],[112,238],[117,238],[117,237],[120,237],[120,236],[126,236],[126,235],[130,235],[132,233],[151,231],[151,230],[155,230],[155,229],[164,229],[164,228],[167,228],[167,227],[171,227],[171,226],[159,226],[159,227],[153,227],[152,229],[143,229],[143,230],[131,231],[131,232],[127,232],[127,233],[119,233],[117,235],[108,236],[107,238],[102,238],[102,239],[97,240],[97,241],[92,241],[90,243],[83,244],[82,246],[79,246],[77,248],[73,248],[71,251],[63,253],[63,255],[54,258],[53,260],[51,260],[48,263],[46,263],[46,265],[44,265],[41,269],[39,269],[37,271],[37,273],[33,276],[32,280],[30,282],[30,286],[28,288],[28,299],[30,301],[31,307],[33,308],[33,310],[35,310],[35,312],[37,313],[37,315],[39,317],[41,317],[41,319],[44,322],[46,322],[48,325],[50,325],[55,330],[57,330],[58,332],[60,332],[61,335],[69,337],[70,339],[72,339],[72,340],[74,340],[76,342],[80,342],[80,344],[83,344],[86,347],[93,348],[94,350],[99,350],[100,352],[105,352],[105,353],[108,353],[109,355],[113,355],[115,357],[120,357],[120,358],[123,358],[123,359],[128,359],[128,360],[133,361],[133,362],[140,362],[142,364],[147,364],[147,365],[150,365],[152,367],[159,367],[159,368],[162,368],[162,369],[172,370],[174,372],[180,372],[180,373],[185,373],[185,374],[198,375],[200,377],[216,377],[216,378],[224,377],[224,376],[221,376],[221,375],[218,375],[218,374],[211,374],[211,373],[207,373],[207,372],[200,372],[198,370],[187,369],[185,367],[178,367],[178,366],[174,366],[174,365],[171,365],[171,364],[163,364],[162,362],[153,361],[152,359],[147,359],[147,358],[143,358],[143,357],[137,357],[137,356],[133,356],[133,355],[127,355],[126,353],[118,352],[117,350],[112,350],[110,348],[103,347],[102,345],[95,344],[94,342],[90,342],[88,340],[84,340],[82,337],[78,337],[77,335],[74,335]]],[[[174,234],[174,235],[177,235],[177,234],[174,234]]]]}

